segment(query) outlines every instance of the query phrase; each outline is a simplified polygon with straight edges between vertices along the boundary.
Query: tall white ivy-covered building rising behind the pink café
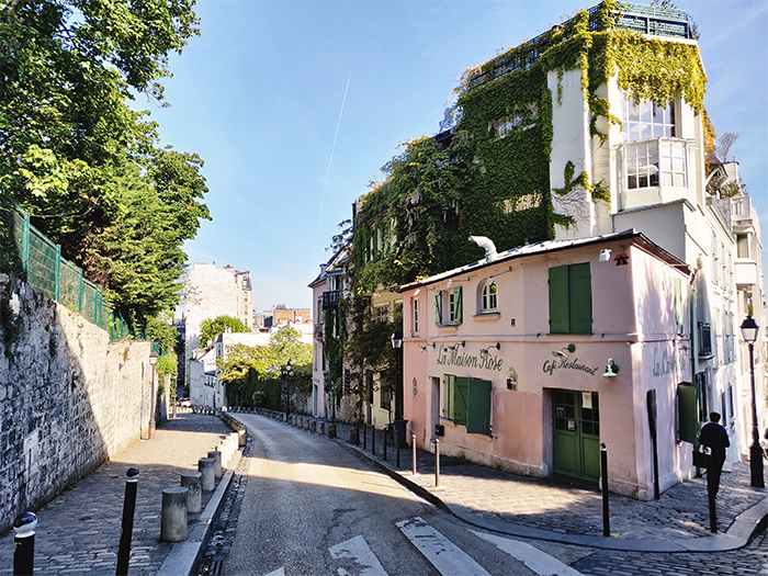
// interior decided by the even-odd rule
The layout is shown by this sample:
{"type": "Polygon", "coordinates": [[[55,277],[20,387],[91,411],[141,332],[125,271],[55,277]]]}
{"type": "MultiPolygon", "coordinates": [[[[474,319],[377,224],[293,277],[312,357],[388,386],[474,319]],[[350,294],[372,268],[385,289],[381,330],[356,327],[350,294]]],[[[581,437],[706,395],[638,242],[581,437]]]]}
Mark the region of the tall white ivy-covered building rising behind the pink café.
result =
{"type": "MultiPolygon", "coordinates": [[[[354,325],[354,298],[368,298],[370,316],[376,294],[478,260],[468,236],[502,252],[637,229],[693,270],[678,362],[700,420],[722,413],[729,460],[743,458],[752,419],[738,326],[748,312],[765,326],[761,242],[737,176],[712,154],[705,82],[685,11],[613,0],[467,70],[440,133],[408,143],[355,204],[342,324],[354,325]]],[[[355,332],[345,332],[345,362],[355,332]]]]}

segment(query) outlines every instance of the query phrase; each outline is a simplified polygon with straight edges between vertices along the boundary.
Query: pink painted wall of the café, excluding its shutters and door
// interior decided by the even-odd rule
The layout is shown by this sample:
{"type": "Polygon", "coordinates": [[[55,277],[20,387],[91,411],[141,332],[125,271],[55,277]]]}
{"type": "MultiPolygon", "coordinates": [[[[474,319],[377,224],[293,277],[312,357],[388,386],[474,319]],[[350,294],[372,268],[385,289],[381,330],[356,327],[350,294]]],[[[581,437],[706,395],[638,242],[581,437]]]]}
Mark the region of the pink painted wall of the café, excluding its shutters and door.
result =
{"type": "MultiPolygon", "coordinates": [[[[463,287],[463,323],[438,327],[433,300],[436,290],[448,290],[448,274],[442,278],[422,284],[418,294],[416,290],[403,294],[405,417],[420,447],[433,439],[433,423],[440,421],[445,426],[441,439],[445,454],[516,473],[549,475],[553,470],[552,391],[597,392],[611,489],[645,499],[648,489],[653,497],[645,394],[655,388],[659,445],[664,444],[659,448],[663,489],[688,474],[685,454],[690,445],[677,445],[674,416],[677,384],[690,380],[690,370],[680,349],[684,343],[675,341],[674,292],[669,297],[673,278],[679,278],[687,303],[687,276],[633,246],[632,239],[496,261],[451,276],[453,286],[463,287]],[[612,250],[611,260],[599,262],[602,248],[612,250]],[[628,256],[625,266],[613,260],[619,253],[628,256]],[[594,334],[550,335],[549,269],[580,262],[590,263],[594,334]],[[498,312],[479,315],[477,294],[488,275],[497,284],[498,312]],[[421,321],[419,334],[409,337],[414,298],[419,300],[421,321]],[[479,352],[497,342],[500,350],[488,348],[487,355],[479,352]],[[445,350],[453,345],[459,345],[455,355],[445,350]],[[553,355],[569,345],[576,349],[567,352],[567,360],[553,355]],[[620,368],[610,379],[602,376],[609,358],[620,368]],[[510,369],[517,373],[516,391],[507,386],[510,369]],[[442,380],[443,374],[493,383],[493,438],[468,434],[464,426],[437,417],[434,406],[440,403],[430,382],[442,380]],[[419,383],[416,397],[411,393],[415,377],[419,383]]],[[[685,319],[687,326],[687,313],[685,319]]]]}

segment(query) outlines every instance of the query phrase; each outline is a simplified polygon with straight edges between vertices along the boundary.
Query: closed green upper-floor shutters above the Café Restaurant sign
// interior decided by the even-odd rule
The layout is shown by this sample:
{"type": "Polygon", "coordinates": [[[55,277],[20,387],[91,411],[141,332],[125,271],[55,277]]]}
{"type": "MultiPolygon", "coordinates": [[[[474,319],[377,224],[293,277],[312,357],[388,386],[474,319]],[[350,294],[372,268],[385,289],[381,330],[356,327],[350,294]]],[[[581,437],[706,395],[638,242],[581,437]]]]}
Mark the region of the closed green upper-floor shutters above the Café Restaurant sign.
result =
{"type": "Polygon", "coordinates": [[[550,332],[592,334],[589,262],[550,268],[550,332]]]}

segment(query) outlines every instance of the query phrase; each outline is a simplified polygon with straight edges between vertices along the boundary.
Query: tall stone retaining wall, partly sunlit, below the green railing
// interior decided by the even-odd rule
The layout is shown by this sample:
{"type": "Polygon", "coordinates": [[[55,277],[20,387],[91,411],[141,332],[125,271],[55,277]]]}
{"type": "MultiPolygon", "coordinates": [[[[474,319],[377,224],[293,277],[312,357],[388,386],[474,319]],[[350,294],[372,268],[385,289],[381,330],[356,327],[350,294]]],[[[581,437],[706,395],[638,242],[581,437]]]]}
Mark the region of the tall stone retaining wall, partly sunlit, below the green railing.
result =
{"type": "Polygon", "coordinates": [[[0,325],[0,532],[146,436],[156,397],[149,342],[110,343],[67,307],[15,289],[21,335],[7,342],[0,325]]]}

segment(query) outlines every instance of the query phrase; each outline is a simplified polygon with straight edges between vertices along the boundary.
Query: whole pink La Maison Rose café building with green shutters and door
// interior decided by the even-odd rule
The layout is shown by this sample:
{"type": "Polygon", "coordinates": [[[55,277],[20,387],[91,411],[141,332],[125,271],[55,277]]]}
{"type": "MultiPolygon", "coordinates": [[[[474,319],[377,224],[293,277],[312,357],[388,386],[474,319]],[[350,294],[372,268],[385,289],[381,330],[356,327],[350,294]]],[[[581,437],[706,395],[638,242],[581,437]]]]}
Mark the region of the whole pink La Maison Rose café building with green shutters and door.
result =
{"type": "Polygon", "coordinates": [[[605,443],[611,492],[640,499],[690,476],[690,269],[635,230],[476,241],[484,260],[403,286],[417,445],[597,483],[605,443]]]}

